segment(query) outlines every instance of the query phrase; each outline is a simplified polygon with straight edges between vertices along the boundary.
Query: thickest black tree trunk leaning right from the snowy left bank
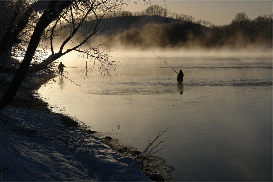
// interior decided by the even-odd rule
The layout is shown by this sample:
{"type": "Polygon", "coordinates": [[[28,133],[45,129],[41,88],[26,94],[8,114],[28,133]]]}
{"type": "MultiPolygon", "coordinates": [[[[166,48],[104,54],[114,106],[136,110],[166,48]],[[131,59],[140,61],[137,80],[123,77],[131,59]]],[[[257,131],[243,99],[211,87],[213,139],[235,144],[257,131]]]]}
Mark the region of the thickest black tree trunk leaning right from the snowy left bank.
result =
{"type": "Polygon", "coordinates": [[[14,98],[16,92],[18,91],[22,80],[27,73],[28,67],[30,66],[31,60],[34,56],[36,48],[40,42],[41,35],[45,28],[66,8],[71,2],[64,1],[62,3],[57,1],[52,1],[48,5],[48,9],[44,11],[41,18],[38,20],[36,27],[34,28],[33,34],[29,41],[26,54],[19,69],[17,70],[8,90],[2,97],[1,105],[2,109],[5,108],[11,100],[14,98]],[[57,11],[56,11],[57,9],[57,11]]]}

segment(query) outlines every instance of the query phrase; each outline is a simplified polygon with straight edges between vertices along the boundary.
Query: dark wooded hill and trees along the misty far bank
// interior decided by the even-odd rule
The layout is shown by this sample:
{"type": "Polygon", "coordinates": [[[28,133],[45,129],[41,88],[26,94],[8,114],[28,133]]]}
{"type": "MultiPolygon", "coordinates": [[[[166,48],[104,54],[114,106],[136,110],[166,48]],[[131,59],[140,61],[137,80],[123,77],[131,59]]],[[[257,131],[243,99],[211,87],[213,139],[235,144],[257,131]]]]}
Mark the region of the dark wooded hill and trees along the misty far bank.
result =
{"type": "Polygon", "coordinates": [[[113,48],[117,45],[131,48],[241,48],[249,45],[271,46],[272,41],[271,15],[261,15],[251,20],[246,13],[239,12],[231,23],[216,26],[209,21],[195,20],[192,16],[151,5],[141,12],[110,12],[105,17],[109,18],[106,21],[108,34],[103,42],[113,48]]]}

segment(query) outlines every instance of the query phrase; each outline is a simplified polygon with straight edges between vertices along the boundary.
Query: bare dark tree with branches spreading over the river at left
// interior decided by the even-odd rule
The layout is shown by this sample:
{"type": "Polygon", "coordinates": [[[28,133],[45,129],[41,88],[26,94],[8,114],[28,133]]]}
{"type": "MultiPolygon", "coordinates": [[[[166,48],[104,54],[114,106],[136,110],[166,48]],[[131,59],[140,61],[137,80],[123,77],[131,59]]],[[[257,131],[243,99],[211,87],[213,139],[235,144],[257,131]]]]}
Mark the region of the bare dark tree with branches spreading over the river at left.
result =
{"type": "MultiPolygon", "coordinates": [[[[35,2],[28,6],[23,15],[20,16],[20,20],[13,20],[11,18],[8,25],[10,28],[5,31],[5,36],[8,37],[6,40],[11,41],[5,44],[2,56],[10,52],[11,49],[16,49],[16,51],[21,49],[23,61],[20,63],[8,90],[2,97],[2,108],[5,108],[12,100],[26,75],[48,69],[48,66],[52,65],[52,62],[71,51],[77,51],[82,58],[86,59],[85,76],[93,69],[98,69],[99,74],[111,77],[111,69],[116,71],[117,66],[117,61],[109,59],[111,51],[103,44],[92,46],[88,40],[96,34],[98,25],[106,13],[120,10],[124,4],[124,2],[120,1],[107,0],[90,2],[35,2]],[[41,9],[41,7],[44,7],[44,9],[41,9]],[[33,18],[29,19],[31,15],[33,15],[33,18]],[[18,27],[19,23],[16,24],[16,22],[23,23],[18,27]],[[55,37],[63,37],[59,34],[62,28],[66,29],[68,34],[67,37],[63,38],[58,52],[55,52],[54,49],[56,50],[56,48],[54,47],[53,40],[55,37]],[[20,30],[19,33],[15,34],[14,32],[18,30],[20,30]],[[29,44],[27,46],[20,45],[20,41],[17,39],[19,36],[23,36],[26,31],[31,33],[30,39],[27,39],[29,44]],[[80,41],[77,39],[79,36],[74,37],[76,33],[81,34],[80,41]],[[74,44],[70,48],[67,48],[69,41],[74,42],[74,44]],[[40,58],[34,60],[35,54],[39,54],[41,51],[46,52],[45,48],[51,50],[51,55],[40,54],[40,58]]],[[[19,3],[16,11],[19,11],[21,6],[19,3]]],[[[18,16],[14,16],[15,19],[16,17],[18,16]]],[[[51,69],[53,70],[54,67],[51,69]]]]}

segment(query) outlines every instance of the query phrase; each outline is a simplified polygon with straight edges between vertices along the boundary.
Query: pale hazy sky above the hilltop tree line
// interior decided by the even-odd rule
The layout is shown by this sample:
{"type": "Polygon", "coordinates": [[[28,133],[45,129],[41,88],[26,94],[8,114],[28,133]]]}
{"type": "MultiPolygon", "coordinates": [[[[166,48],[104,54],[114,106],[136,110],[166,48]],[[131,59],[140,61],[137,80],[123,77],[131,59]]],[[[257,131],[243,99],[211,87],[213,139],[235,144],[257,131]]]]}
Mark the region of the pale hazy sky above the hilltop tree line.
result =
{"type": "MultiPolygon", "coordinates": [[[[151,1],[145,3],[143,0],[135,0],[136,4],[128,1],[129,6],[125,10],[136,12],[146,9],[149,5],[160,5],[166,7],[164,1],[151,1]]],[[[147,1],[148,2],[148,1],[147,1]]],[[[272,14],[272,1],[171,1],[166,0],[169,11],[183,13],[195,17],[196,20],[203,19],[223,25],[231,23],[235,15],[245,12],[250,19],[259,15],[272,14]]]]}

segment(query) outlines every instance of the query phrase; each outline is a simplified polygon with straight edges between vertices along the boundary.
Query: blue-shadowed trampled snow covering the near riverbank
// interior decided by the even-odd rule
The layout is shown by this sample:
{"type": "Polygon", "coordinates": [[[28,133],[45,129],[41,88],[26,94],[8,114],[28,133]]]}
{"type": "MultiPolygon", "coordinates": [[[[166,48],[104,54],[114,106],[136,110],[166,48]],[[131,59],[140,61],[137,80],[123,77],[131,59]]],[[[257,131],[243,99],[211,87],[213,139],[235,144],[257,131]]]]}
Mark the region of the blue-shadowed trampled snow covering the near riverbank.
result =
{"type": "Polygon", "coordinates": [[[139,161],[62,123],[54,113],[3,109],[1,180],[149,181],[138,169],[139,161]]]}

